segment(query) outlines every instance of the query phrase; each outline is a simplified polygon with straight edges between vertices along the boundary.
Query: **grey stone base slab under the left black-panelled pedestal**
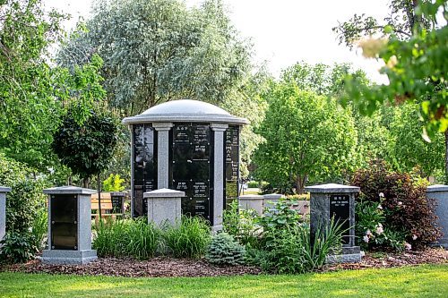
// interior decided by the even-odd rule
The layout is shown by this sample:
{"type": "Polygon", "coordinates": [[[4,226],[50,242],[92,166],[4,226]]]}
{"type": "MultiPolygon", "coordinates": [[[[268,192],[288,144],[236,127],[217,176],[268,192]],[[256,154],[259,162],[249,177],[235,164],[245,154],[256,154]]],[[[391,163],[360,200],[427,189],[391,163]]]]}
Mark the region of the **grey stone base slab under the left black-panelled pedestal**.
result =
{"type": "Polygon", "coordinates": [[[44,250],[42,252],[42,263],[45,264],[73,264],[82,265],[97,260],[97,251],[64,251],[44,250]]]}

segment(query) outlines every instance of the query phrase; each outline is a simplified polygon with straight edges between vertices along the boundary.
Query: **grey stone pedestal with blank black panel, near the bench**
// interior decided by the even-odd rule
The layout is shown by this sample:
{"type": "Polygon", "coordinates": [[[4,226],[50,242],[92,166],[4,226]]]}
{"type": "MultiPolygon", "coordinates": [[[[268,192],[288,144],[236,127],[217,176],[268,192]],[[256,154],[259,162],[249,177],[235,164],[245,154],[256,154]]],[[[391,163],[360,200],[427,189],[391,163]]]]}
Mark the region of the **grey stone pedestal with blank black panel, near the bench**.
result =
{"type": "Polygon", "coordinates": [[[91,199],[94,190],[62,186],[44,190],[48,194],[47,264],[85,264],[97,259],[91,249],[91,199]]]}

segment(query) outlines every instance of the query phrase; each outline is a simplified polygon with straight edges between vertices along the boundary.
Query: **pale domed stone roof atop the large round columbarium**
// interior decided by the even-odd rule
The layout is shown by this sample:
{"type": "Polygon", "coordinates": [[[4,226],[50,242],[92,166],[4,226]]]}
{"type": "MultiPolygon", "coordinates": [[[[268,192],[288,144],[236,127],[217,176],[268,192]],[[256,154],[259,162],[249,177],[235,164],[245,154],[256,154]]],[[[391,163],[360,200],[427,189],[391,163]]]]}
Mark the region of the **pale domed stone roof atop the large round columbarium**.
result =
{"type": "Polygon", "coordinates": [[[123,119],[126,124],[157,122],[249,123],[245,118],[228,114],[219,106],[191,99],[168,101],[152,106],[140,115],[123,119]]]}

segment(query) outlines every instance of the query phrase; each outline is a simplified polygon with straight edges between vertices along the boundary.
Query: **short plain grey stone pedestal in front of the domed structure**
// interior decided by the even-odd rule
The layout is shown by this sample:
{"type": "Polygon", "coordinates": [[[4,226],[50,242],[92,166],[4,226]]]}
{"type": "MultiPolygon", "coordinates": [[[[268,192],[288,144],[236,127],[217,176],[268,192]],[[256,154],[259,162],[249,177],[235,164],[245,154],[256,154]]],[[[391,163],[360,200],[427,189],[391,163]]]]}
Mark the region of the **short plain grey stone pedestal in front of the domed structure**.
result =
{"type": "Polygon", "coordinates": [[[168,223],[175,226],[180,222],[182,215],[181,199],[185,192],[168,190],[166,188],[152,192],[144,192],[143,198],[148,200],[148,223],[156,226],[168,223]]]}

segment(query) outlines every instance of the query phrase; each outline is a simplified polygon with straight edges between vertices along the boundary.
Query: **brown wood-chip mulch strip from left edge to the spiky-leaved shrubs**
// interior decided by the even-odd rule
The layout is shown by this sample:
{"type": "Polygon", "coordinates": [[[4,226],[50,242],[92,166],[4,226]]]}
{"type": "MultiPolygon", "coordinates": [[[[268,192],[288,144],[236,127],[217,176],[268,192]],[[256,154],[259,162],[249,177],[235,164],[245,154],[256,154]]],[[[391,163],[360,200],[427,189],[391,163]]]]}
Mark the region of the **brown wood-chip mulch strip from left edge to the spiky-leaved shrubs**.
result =
{"type": "Polygon", "coordinates": [[[206,260],[172,258],[153,258],[151,260],[98,259],[85,265],[47,265],[40,260],[26,264],[9,265],[0,271],[75,274],[115,277],[222,277],[239,275],[258,275],[260,268],[249,266],[218,267],[206,260]]]}

